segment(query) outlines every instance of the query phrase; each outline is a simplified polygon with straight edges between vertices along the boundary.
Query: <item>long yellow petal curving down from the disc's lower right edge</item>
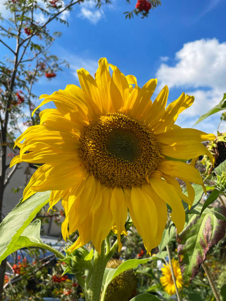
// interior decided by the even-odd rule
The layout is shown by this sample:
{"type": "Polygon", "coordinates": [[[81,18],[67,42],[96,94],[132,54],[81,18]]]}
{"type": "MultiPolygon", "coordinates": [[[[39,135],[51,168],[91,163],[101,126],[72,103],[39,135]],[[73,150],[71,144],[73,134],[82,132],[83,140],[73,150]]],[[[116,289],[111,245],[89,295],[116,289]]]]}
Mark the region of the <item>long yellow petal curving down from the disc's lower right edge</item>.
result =
{"type": "Polygon", "coordinates": [[[165,180],[157,178],[151,178],[150,184],[155,190],[156,194],[160,195],[161,199],[171,207],[172,221],[177,228],[177,233],[180,233],[185,224],[185,211],[181,198],[177,194],[176,189],[172,185],[168,184],[165,180]]]}

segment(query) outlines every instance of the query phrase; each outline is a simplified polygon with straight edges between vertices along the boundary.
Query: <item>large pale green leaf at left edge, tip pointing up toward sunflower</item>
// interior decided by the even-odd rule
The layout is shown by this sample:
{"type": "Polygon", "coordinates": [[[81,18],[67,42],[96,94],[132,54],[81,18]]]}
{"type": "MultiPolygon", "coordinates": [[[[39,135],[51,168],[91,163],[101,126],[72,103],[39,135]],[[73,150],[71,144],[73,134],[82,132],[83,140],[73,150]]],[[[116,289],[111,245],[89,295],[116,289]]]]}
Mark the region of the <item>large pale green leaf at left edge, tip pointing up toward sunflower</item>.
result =
{"type": "Polygon", "coordinates": [[[0,224],[0,263],[14,252],[14,245],[19,240],[19,237],[31,223],[37,212],[48,203],[49,197],[50,191],[37,192],[28,200],[20,201],[3,219],[0,224]]]}

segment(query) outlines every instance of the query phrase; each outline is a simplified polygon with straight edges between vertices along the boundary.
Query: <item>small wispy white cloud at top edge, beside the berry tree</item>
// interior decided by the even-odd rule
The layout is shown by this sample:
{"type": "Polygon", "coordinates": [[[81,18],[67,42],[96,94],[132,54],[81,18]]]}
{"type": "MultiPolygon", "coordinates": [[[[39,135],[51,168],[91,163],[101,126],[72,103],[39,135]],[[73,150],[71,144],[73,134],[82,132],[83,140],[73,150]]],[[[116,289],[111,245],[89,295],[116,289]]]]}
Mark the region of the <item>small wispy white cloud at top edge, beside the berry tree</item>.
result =
{"type": "Polygon", "coordinates": [[[98,9],[94,0],[81,3],[80,8],[79,17],[87,19],[93,24],[97,24],[97,22],[104,17],[103,8],[98,9]]]}

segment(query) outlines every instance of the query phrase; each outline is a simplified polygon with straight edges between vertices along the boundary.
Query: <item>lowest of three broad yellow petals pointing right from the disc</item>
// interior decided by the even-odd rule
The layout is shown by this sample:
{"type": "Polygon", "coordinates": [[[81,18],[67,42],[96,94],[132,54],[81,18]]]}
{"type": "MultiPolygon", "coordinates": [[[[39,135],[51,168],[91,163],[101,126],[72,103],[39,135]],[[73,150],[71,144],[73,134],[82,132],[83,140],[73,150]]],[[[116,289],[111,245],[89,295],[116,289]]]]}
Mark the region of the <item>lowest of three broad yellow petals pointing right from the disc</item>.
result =
{"type": "Polygon", "coordinates": [[[199,185],[203,184],[199,172],[192,165],[185,162],[164,160],[159,164],[158,170],[183,181],[190,181],[199,185]]]}

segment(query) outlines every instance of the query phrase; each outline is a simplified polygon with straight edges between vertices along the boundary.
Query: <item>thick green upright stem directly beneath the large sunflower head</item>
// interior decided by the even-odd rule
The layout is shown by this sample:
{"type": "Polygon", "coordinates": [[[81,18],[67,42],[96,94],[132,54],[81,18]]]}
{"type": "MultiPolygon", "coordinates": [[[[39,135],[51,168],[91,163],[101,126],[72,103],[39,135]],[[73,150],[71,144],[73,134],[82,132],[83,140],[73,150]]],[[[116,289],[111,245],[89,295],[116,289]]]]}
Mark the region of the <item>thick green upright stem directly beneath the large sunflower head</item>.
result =
{"type": "Polygon", "coordinates": [[[90,288],[88,290],[89,298],[87,301],[99,301],[103,274],[107,264],[105,256],[105,241],[101,244],[100,254],[95,251],[93,273],[90,281],[90,288]]]}

